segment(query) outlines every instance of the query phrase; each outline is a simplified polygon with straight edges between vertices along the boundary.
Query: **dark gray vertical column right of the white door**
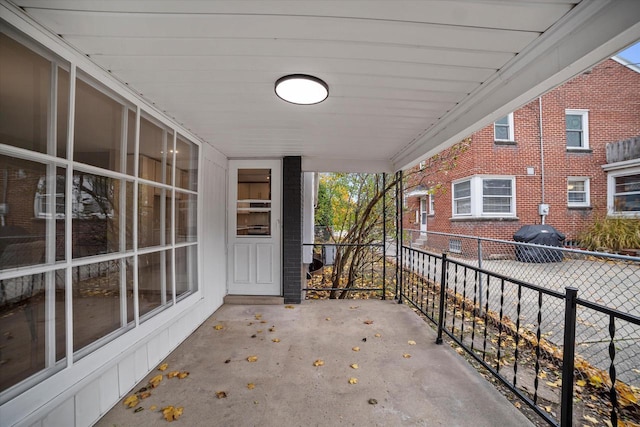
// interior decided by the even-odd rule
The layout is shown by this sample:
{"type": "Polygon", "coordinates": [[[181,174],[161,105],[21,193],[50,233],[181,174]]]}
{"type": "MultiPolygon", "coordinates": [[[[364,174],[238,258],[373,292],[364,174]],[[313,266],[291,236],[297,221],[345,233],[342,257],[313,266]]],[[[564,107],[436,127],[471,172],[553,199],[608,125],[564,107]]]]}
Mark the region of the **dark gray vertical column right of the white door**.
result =
{"type": "MultiPolygon", "coordinates": [[[[282,162],[282,293],[286,304],[302,301],[302,157],[282,162]]],[[[303,279],[304,277],[304,279],[303,279]]]]}

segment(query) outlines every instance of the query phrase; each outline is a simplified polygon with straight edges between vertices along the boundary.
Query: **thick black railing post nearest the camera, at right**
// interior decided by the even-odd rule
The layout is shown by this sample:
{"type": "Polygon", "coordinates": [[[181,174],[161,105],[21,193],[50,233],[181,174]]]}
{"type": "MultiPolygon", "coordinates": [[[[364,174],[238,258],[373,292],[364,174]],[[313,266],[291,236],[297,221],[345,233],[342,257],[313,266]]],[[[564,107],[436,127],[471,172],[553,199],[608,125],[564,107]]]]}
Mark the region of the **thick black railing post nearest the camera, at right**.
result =
{"type": "Polygon", "coordinates": [[[576,350],[576,298],[578,289],[567,286],[565,292],[560,425],[569,427],[572,425],[573,420],[573,369],[576,350]]]}

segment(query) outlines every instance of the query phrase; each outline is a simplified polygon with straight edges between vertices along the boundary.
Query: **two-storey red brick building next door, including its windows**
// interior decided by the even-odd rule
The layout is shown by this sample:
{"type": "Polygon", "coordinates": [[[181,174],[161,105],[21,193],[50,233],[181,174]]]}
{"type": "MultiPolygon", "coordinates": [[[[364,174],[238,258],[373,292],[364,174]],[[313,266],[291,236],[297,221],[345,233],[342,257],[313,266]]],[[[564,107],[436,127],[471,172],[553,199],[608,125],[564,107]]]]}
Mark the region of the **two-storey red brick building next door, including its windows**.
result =
{"type": "Polygon", "coordinates": [[[472,134],[453,158],[409,171],[421,168],[409,174],[404,227],[510,240],[545,223],[574,240],[598,216],[638,215],[638,135],[640,69],[606,60],[472,134]],[[623,154],[607,158],[607,144],[623,154]]]}

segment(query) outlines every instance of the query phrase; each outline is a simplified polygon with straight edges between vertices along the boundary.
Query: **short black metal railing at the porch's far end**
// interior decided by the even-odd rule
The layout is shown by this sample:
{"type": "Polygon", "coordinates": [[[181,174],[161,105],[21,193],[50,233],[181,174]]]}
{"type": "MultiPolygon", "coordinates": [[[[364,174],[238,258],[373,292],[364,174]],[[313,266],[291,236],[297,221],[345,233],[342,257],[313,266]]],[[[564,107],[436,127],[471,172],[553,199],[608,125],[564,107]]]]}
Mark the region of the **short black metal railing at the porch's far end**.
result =
{"type": "Polygon", "coordinates": [[[304,244],[309,264],[307,286],[313,297],[349,298],[350,296],[386,299],[393,297],[389,288],[395,277],[395,250],[382,243],[313,243],[304,244]],[[390,253],[392,252],[392,253],[390,253]]]}

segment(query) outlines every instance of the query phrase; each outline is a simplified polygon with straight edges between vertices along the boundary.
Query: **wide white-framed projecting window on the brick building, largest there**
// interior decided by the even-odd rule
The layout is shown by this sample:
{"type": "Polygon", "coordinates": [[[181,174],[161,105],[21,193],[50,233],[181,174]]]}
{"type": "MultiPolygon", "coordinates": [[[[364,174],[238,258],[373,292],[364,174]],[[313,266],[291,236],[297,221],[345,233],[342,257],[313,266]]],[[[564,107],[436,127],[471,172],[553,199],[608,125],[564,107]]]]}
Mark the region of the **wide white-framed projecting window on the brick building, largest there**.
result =
{"type": "Polygon", "coordinates": [[[474,176],[453,183],[453,216],[515,216],[515,178],[474,176]]]}

